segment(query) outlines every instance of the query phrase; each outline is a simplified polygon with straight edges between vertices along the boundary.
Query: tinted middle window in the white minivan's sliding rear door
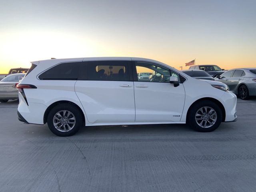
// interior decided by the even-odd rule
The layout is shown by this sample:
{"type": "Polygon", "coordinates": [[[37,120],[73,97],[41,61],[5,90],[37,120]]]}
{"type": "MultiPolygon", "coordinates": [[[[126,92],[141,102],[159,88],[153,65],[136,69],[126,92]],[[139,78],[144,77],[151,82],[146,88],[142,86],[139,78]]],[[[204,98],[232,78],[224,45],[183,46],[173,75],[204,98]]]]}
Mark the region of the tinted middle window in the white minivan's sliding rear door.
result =
{"type": "Polygon", "coordinates": [[[130,81],[129,61],[88,61],[88,80],[130,81]]]}

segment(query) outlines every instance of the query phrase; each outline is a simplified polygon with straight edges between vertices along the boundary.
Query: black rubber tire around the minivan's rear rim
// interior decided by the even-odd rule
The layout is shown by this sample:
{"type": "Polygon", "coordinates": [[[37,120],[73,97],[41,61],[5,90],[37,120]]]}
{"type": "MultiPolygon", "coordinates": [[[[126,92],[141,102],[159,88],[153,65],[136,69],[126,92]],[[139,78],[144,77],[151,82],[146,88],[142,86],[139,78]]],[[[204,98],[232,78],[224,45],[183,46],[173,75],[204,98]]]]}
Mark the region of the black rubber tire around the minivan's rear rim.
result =
{"type": "MultiPolygon", "coordinates": [[[[55,121],[56,121],[56,118],[55,118],[55,121]]],[[[59,105],[55,106],[54,108],[52,108],[52,110],[50,110],[48,117],[47,117],[47,124],[48,124],[49,129],[54,134],[61,136],[61,137],[74,135],[76,132],[78,132],[78,130],[82,126],[82,123],[83,123],[83,118],[82,118],[82,114],[81,114],[80,110],[76,106],[74,106],[72,104],[68,104],[68,103],[59,104],[59,105]],[[62,132],[64,130],[62,130],[62,131],[58,130],[57,128],[55,128],[55,126],[53,124],[54,116],[56,115],[56,113],[58,113],[60,111],[64,111],[64,110],[71,112],[72,116],[74,116],[74,118],[75,118],[74,127],[71,130],[66,130],[66,132],[62,132]]],[[[60,122],[60,124],[62,124],[62,122],[60,122]]],[[[69,124],[69,123],[66,122],[66,124],[69,124]]],[[[69,125],[71,125],[71,124],[69,124],[69,125]]]]}

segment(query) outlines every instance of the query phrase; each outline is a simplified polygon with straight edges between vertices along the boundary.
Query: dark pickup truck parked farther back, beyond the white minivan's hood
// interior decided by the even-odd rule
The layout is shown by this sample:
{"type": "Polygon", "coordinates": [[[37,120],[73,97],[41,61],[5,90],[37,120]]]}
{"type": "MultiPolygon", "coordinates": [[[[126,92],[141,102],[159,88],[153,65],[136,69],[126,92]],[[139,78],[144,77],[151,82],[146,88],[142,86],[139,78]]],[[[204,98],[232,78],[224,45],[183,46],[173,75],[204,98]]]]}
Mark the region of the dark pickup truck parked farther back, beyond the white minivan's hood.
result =
{"type": "Polygon", "coordinates": [[[206,71],[213,78],[216,76],[220,76],[222,73],[226,72],[226,70],[221,69],[217,65],[193,65],[188,68],[189,70],[198,69],[206,71]]]}

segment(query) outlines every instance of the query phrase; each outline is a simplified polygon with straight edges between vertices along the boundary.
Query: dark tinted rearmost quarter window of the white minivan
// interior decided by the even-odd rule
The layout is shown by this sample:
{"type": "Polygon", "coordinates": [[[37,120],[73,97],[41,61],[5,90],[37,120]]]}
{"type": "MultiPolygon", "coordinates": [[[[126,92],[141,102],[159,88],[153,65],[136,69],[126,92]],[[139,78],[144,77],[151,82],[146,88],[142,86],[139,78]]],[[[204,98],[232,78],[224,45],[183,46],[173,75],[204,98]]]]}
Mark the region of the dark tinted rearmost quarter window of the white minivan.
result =
{"type": "Polygon", "coordinates": [[[80,74],[82,62],[70,62],[58,64],[38,77],[40,80],[77,80],[80,74]]]}

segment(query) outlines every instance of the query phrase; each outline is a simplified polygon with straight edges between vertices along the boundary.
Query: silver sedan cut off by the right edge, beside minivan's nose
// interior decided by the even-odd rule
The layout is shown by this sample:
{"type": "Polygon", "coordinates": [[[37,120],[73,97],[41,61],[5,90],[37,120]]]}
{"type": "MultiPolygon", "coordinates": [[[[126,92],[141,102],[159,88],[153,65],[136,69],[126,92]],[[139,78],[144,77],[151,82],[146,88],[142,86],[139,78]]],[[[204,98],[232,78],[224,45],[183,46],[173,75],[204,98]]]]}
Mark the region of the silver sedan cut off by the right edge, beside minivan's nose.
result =
{"type": "Polygon", "coordinates": [[[225,83],[241,99],[256,96],[256,68],[236,68],[220,75],[216,80],[225,83]]]}

